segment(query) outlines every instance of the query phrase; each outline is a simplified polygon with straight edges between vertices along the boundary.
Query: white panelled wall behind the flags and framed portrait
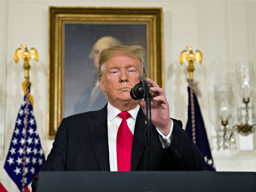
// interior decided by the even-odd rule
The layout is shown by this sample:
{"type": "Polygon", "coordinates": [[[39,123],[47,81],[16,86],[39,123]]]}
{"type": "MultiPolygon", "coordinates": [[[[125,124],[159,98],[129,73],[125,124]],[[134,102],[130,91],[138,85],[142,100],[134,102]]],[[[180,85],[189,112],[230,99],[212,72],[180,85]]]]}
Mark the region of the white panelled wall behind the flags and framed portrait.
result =
{"type": "Polygon", "coordinates": [[[214,84],[224,82],[225,72],[234,62],[256,63],[255,0],[0,0],[0,171],[10,146],[20,108],[24,81],[23,62],[14,62],[20,44],[34,47],[39,62],[30,60],[30,80],[34,114],[41,144],[48,155],[52,140],[47,138],[48,92],[48,6],[162,7],[164,20],[165,90],[171,117],[187,121],[188,73],[179,57],[186,46],[203,53],[202,65],[195,64],[194,78],[199,81],[198,98],[212,154],[218,171],[256,171],[256,156],[230,156],[216,150],[214,84]]]}

